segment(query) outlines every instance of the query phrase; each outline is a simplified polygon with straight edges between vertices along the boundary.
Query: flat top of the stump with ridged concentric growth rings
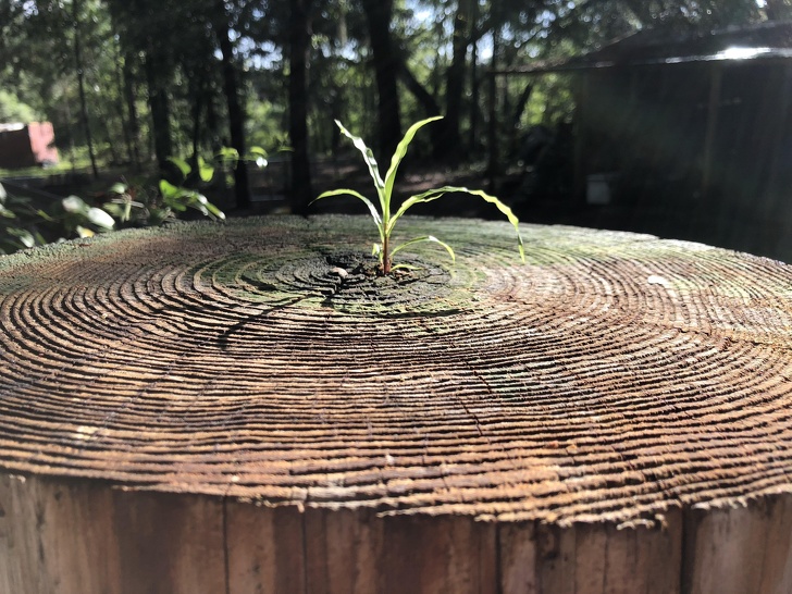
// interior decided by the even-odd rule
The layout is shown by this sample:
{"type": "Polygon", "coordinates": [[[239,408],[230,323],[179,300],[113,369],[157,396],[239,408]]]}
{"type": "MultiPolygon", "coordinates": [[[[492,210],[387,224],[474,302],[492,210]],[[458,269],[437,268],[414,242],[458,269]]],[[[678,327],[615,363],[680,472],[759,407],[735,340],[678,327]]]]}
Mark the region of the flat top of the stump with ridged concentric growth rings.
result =
{"type": "MultiPolygon", "coordinates": [[[[507,524],[531,525],[499,562],[532,543],[546,571],[569,534],[580,547],[621,536],[567,528],[546,544],[541,527],[665,522],[689,584],[705,580],[680,561],[704,546],[701,527],[734,521],[706,509],[764,498],[789,516],[789,267],[527,225],[522,264],[507,223],[407,218],[399,231],[442,234],[456,264],[416,246],[403,258],[414,269],[379,276],[368,221],[344,216],[178,224],[3,258],[0,466],[28,483],[100,479],[323,522],[491,520],[503,546],[507,524]]],[[[482,530],[466,534],[495,537],[482,530]]]]}

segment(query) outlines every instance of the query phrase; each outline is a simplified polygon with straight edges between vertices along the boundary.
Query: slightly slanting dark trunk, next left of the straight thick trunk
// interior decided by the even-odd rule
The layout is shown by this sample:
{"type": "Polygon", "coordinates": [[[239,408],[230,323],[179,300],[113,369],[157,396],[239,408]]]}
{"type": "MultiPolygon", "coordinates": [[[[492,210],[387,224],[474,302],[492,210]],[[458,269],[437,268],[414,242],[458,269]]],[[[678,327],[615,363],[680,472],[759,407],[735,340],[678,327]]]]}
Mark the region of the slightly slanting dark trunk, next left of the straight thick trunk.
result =
{"type": "Polygon", "coordinates": [[[250,208],[250,182],[248,180],[247,162],[245,161],[247,151],[245,146],[245,110],[239,98],[238,74],[234,65],[234,46],[230,36],[228,15],[222,0],[218,3],[216,11],[215,32],[222,54],[223,88],[228,107],[231,146],[239,153],[239,159],[234,166],[234,195],[236,196],[236,208],[246,210],[250,208]]]}

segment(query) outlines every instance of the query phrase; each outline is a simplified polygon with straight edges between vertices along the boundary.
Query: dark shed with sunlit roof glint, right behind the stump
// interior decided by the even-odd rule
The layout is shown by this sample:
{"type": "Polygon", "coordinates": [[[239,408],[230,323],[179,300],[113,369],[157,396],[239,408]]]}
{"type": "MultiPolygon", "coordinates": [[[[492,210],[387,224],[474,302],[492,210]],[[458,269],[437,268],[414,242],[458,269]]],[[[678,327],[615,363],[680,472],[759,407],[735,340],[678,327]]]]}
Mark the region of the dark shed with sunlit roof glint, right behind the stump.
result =
{"type": "Polygon", "coordinates": [[[576,222],[792,260],[792,23],[641,30],[520,72],[574,74],[576,222]]]}

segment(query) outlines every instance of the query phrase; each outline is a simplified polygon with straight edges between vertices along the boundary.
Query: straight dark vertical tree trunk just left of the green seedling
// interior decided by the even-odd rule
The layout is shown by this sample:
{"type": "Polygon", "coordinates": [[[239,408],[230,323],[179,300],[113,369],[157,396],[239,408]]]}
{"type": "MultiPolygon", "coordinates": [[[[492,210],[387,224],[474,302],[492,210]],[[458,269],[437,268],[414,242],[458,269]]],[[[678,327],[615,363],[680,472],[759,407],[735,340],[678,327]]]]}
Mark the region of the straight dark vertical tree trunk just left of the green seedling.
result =
{"type": "Polygon", "coordinates": [[[313,200],[308,147],[308,67],[311,0],[292,0],[288,27],[288,121],[292,141],[292,212],[308,214],[313,200]]]}

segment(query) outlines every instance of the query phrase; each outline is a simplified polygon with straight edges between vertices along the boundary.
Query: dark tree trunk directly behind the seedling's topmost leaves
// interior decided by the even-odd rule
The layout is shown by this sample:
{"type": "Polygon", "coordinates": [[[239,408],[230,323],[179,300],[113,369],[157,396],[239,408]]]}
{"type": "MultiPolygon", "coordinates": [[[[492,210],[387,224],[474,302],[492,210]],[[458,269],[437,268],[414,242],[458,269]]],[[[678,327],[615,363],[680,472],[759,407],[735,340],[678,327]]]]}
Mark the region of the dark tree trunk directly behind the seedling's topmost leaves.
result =
{"type": "Polygon", "coordinates": [[[391,37],[393,0],[362,0],[376,79],[376,113],[380,133],[378,160],[388,163],[401,140],[399,120],[399,60],[391,37]]]}

